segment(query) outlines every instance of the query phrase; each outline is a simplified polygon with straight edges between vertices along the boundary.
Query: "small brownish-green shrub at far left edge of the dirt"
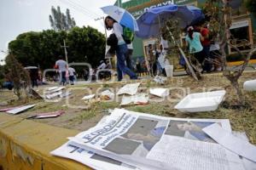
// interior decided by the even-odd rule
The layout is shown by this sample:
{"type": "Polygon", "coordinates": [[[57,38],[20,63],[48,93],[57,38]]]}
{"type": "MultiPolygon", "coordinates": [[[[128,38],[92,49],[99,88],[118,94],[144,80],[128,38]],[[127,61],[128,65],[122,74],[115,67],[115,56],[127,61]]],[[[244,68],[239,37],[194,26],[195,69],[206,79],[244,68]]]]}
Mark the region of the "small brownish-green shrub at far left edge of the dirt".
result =
{"type": "Polygon", "coordinates": [[[28,72],[23,68],[22,65],[15,59],[13,54],[9,54],[6,59],[6,69],[8,71],[6,77],[11,81],[14,82],[14,93],[21,99],[21,90],[25,91],[26,98],[28,98],[28,93],[30,89],[31,80],[29,77],[28,72]]]}

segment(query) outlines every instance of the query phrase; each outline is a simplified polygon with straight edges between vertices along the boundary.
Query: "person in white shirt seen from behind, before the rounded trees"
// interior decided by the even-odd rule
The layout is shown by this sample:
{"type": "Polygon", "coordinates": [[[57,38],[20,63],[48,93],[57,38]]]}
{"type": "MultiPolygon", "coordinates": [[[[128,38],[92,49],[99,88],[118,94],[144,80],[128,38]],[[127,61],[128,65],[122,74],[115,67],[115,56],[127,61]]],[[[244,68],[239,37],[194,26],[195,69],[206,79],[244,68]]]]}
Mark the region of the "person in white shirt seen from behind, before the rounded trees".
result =
{"type": "Polygon", "coordinates": [[[67,62],[64,60],[63,56],[60,55],[59,59],[55,62],[55,69],[58,69],[60,74],[60,84],[64,86],[67,82],[66,80],[66,71],[67,71],[67,62]]]}

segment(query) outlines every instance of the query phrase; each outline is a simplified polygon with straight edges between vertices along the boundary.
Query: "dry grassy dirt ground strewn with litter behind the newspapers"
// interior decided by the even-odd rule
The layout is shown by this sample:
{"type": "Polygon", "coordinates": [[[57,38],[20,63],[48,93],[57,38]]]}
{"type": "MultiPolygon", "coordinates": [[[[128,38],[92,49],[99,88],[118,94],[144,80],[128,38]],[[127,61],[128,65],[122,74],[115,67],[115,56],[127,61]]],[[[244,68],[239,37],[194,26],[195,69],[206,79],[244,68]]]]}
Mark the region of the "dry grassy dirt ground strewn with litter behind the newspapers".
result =
{"type": "MultiPolygon", "coordinates": [[[[246,72],[240,78],[240,83],[247,80],[255,79],[256,72],[246,72]]],[[[247,137],[251,143],[256,144],[256,92],[244,92],[247,104],[250,105],[246,109],[233,109],[230,105],[236,104],[236,95],[234,89],[230,86],[230,82],[221,74],[203,75],[200,82],[195,82],[191,77],[173,77],[168,79],[166,85],[158,85],[150,80],[141,80],[139,91],[147,93],[149,88],[160,87],[169,88],[170,96],[167,99],[160,99],[155,96],[149,96],[148,105],[129,105],[125,106],[126,110],[144,112],[159,116],[172,117],[189,117],[189,118],[218,118],[230,119],[232,130],[247,133],[247,137]],[[174,106],[187,94],[212,91],[217,89],[226,90],[224,102],[218,107],[217,111],[183,113],[174,109],[174,106]]],[[[91,103],[85,103],[81,100],[86,94],[99,94],[105,89],[111,89],[114,92],[130,82],[104,82],[102,84],[84,84],[67,86],[67,91],[72,94],[67,99],[61,99],[58,102],[46,102],[44,100],[30,99],[29,104],[36,104],[31,110],[15,115],[21,118],[36,115],[37,113],[49,111],[65,111],[65,114],[49,119],[32,120],[43,122],[57,127],[65,127],[69,129],[77,129],[79,131],[86,130],[96,125],[102,116],[108,115],[109,109],[121,108],[119,101],[121,96],[115,96],[113,101],[103,101],[94,99],[91,103]],[[81,108],[84,107],[84,108],[81,108]]],[[[53,85],[52,85],[53,86],[53,85]]],[[[41,86],[38,94],[44,94],[44,89],[49,86],[41,86]]],[[[18,101],[12,91],[0,91],[1,108],[11,107],[15,105],[24,105],[24,101],[18,101]]],[[[7,113],[0,113],[7,114],[7,113]]]]}

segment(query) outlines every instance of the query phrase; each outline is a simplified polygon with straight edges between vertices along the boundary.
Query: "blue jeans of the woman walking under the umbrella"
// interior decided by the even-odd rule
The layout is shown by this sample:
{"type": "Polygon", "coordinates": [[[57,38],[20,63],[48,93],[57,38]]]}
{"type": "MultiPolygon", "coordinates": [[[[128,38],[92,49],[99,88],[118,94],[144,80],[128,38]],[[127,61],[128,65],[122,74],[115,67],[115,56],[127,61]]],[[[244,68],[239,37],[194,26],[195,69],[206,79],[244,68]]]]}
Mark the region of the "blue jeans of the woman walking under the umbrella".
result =
{"type": "Polygon", "coordinates": [[[121,81],[123,79],[123,72],[127,74],[131,79],[137,79],[136,74],[131,71],[126,65],[125,65],[125,54],[127,53],[128,48],[126,44],[118,45],[116,49],[116,55],[117,55],[117,72],[118,72],[118,81],[121,81]]]}

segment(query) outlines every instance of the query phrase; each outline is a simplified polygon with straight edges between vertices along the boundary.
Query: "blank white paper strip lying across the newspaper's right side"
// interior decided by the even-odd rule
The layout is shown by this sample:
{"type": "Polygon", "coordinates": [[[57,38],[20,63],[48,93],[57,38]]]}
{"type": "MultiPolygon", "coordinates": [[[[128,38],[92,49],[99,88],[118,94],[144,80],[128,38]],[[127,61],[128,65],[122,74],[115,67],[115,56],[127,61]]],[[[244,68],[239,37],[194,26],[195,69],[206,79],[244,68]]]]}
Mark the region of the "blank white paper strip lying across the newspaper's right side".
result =
{"type": "Polygon", "coordinates": [[[224,148],[235,152],[239,156],[243,156],[248,160],[256,162],[256,146],[247,141],[237,138],[232,133],[227,132],[217,123],[202,129],[207,135],[214,139],[224,148]]]}

